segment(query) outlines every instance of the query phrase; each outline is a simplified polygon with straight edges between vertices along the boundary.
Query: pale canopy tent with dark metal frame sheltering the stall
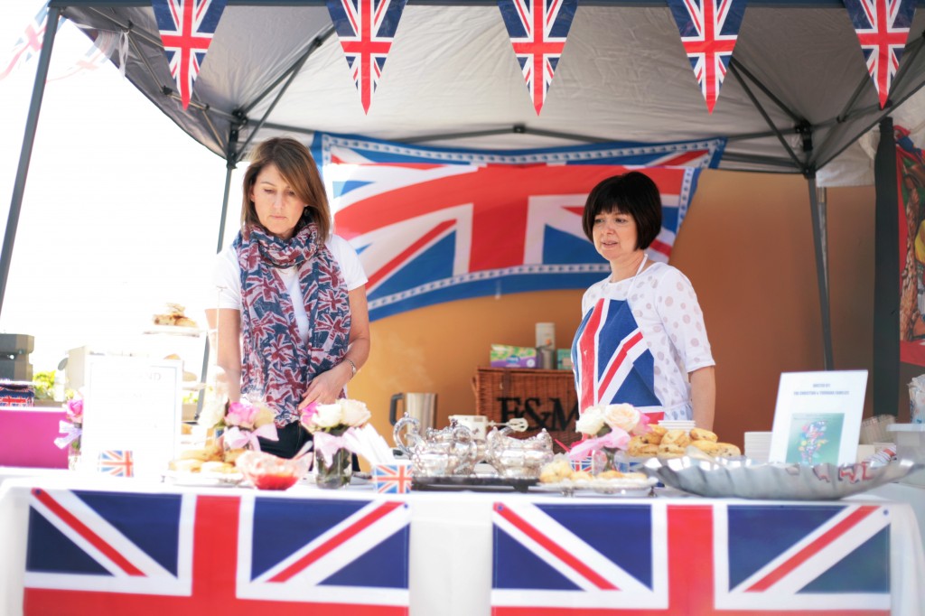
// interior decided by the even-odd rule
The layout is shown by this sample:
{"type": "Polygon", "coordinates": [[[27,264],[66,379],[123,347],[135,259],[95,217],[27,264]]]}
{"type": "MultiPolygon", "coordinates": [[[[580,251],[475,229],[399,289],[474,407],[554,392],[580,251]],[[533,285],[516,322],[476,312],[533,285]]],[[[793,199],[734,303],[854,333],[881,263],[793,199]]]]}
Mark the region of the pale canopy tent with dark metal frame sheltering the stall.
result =
{"type": "MultiPolygon", "coordinates": [[[[229,0],[184,110],[150,1],[52,0],[50,6],[51,19],[126,33],[127,79],[227,161],[226,203],[231,169],[255,140],[277,134],[307,141],[326,131],[479,149],[723,137],[722,169],[808,179],[826,368],[832,342],[817,173],[831,171],[843,184],[865,181],[870,163],[840,154],[925,85],[921,10],[881,109],[842,0],[750,0],[709,114],[665,0],[581,0],[537,116],[497,2],[409,0],[366,115],[325,2],[229,0]]],[[[0,308],[53,41],[49,29],[0,254],[0,308]]],[[[895,210],[889,183],[883,203],[892,194],[895,210]]],[[[223,236],[221,228],[219,247],[223,236]]],[[[898,302],[898,292],[894,297],[898,302]]],[[[880,311],[890,314],[889,305],[880,311]]]]}

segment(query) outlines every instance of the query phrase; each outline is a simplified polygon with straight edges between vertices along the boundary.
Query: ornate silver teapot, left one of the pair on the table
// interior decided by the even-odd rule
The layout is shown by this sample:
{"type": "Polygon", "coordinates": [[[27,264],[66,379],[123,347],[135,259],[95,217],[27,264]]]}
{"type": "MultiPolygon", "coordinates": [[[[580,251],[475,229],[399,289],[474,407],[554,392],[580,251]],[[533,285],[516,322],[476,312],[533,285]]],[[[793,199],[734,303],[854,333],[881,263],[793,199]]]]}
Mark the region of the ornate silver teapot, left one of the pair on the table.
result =
{"type": "Polygon", "coordinates": [[[413,474],[472,474],[478,447],[469,428],[454,423],[442,430],[427,428],[423,436],[419,429],[420,422],[405,413],[392,430],[395,445],[411,458],[413,474]]]}

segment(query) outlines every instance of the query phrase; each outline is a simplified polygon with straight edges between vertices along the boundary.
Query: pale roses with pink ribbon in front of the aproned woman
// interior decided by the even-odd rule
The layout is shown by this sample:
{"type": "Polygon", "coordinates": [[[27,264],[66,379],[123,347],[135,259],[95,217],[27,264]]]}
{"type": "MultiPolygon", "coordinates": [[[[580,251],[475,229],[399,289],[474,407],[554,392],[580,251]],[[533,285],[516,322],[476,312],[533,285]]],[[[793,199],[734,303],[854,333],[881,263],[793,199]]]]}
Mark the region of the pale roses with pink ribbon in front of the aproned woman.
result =
{"type": "Polygon", "coordinates": [[[639,413],[632,404],[595,404],[578,417],[575,430],[582,440],[569,451],[572,460],[591,459],[591,473],[617,470],[615,457],[626,450],[631,435],[649,431],[648,415],[639,413]]]}

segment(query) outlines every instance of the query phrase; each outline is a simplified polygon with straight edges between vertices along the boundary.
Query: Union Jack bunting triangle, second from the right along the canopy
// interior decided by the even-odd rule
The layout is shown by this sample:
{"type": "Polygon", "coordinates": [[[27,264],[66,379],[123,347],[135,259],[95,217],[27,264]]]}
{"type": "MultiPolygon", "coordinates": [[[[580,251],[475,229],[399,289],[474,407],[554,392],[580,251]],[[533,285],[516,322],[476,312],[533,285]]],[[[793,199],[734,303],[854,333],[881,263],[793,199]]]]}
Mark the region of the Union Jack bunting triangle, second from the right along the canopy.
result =
{"type": "Polygon", "coordinates": [[[687,59],[707,101],[707,110],[720,95],[722,80],[733,57],[746,0],[668,0],[681,32],[687,59]]]}

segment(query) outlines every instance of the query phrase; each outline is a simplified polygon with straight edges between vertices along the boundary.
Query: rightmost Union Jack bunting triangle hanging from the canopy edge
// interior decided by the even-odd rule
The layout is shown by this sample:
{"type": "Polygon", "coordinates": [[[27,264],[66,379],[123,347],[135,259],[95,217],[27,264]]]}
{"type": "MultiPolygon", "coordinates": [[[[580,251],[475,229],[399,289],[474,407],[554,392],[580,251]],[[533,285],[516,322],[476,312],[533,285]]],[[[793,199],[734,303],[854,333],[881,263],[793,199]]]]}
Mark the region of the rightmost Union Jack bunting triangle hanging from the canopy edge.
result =
{"type": "Polygon", "coordinates": [[[915,0],[845,0],[881,109],[906,48],[915,7],[915,0]]]}

